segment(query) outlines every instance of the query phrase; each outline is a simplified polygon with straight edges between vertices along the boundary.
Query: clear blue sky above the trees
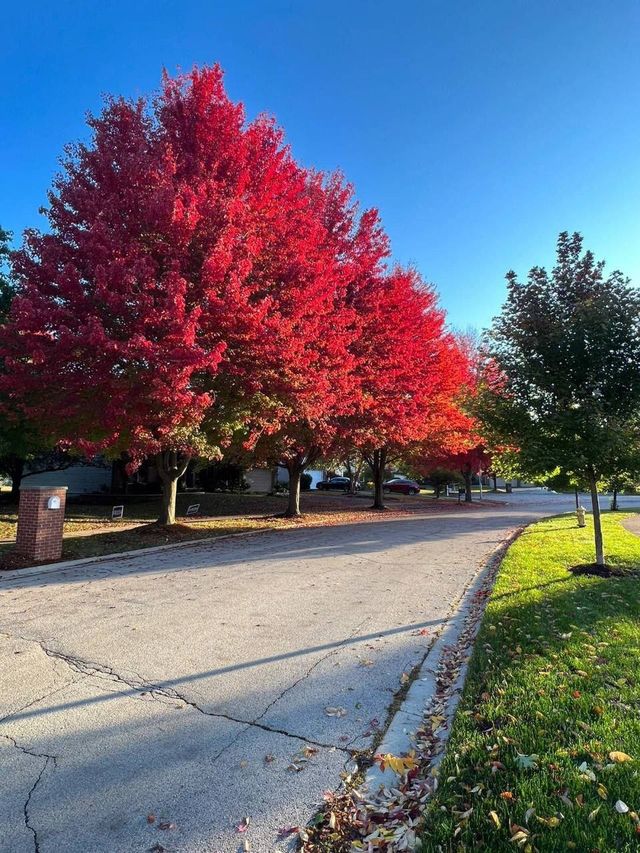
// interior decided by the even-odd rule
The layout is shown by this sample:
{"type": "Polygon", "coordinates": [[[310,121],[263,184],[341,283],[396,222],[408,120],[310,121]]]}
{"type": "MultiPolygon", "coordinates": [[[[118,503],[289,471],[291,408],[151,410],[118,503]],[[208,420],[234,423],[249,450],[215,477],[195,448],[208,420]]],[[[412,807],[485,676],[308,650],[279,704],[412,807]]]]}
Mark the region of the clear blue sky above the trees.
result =
{"type": "Polygon", "coordinates": [[[19,238],[65,143],[104,93],[219,61],[249,116],[340,168],[379,208],[394,257],[483,327],[504,273],[582,231],[640,283],[640,3],[13,3],[2,14],[0,224],[19,238]]]}

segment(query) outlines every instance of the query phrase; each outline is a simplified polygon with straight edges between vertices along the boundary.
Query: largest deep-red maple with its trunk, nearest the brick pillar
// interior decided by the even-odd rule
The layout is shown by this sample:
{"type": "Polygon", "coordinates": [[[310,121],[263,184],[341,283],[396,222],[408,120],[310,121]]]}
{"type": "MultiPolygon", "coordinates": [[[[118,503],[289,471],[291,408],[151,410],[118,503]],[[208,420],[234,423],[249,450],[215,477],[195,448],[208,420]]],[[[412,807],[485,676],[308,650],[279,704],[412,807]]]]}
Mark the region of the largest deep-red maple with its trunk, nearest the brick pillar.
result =
{"type": "Polygon", "coordinates": [[[271,384],[321,279],[324,228],[281,132],[246,123],[218,67],[89,124],[49,194],[50,233],[28,232],[16,257],[9,390],[66,447],[130,467],[155,456],[172,523],[193,454],[256,400],[263,428],[282,417],[271,384]]]}

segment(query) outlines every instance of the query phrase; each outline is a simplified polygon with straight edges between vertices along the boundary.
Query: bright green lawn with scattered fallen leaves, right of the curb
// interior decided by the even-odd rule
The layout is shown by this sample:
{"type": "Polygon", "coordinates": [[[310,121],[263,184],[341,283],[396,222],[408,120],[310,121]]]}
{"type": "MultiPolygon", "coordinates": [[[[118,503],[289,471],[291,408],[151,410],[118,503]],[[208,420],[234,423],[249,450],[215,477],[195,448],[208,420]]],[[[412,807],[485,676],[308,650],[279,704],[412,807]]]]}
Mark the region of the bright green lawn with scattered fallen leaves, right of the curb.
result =
{"type": "MultiPolygon", "coordinates": [[[[624,517],[603,516],[605,553],[633,572],[640,538],[624,517]]],[[[572,515],[509,549],[423,851],[640,849],[640,579],[567,571],[592,560],[592,530],[572,515]]]]}

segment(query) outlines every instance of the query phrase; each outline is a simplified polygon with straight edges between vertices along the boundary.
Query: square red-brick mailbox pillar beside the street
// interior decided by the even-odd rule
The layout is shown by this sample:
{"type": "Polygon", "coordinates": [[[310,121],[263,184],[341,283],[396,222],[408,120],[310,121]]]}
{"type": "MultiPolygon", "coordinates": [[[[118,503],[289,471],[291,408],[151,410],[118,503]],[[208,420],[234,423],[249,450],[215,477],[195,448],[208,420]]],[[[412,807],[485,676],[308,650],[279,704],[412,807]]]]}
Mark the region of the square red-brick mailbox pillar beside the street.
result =
{"type": "Polygon", "coordinates": [[[66,486],[20,486],[18,554],[36,563],[60,559],[66,499],[66,486]]]}

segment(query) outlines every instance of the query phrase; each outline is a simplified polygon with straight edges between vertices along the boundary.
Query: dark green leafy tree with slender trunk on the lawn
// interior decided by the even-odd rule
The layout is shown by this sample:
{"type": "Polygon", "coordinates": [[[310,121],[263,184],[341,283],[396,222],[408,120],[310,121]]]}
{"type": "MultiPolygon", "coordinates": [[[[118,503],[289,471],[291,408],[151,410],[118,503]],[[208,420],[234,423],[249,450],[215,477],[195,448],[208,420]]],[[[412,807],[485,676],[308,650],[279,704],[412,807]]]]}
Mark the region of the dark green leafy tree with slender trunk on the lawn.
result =
{"type": "Polygon", "coordinates": [[[500,381],[483,393],[492,435],[519,449],[536,477],[559,467],[591,493],[596,562],[604,564],[598,481],[618,470],[640,407],[640,292],[621,272],[583,252],[580,234],[560,234],[556,266],[508,295],[488,337],[500,381]]]}

